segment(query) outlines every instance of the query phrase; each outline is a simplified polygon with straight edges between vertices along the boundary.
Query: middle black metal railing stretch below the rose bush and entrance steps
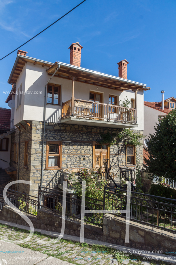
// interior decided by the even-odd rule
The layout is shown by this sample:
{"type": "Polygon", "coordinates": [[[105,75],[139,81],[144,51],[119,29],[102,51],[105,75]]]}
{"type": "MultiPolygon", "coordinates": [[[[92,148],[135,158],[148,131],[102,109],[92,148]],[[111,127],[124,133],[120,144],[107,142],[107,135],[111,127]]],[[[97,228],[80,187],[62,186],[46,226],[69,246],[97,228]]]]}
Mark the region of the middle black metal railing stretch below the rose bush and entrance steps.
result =
{"type": "MultiPolygon", "coordinates": [[[[63,192],[39,186],[38,207],[62,214],[63,192]]],[[[103,201],[86,197],[85,210],[103,210],[103,201]]],[[[66,216],[81,219],[81,199],[75,194],[66,194],[66,216]]],[[[85,213],[85,222],[103,226],[103,214],[85,213]]]]}

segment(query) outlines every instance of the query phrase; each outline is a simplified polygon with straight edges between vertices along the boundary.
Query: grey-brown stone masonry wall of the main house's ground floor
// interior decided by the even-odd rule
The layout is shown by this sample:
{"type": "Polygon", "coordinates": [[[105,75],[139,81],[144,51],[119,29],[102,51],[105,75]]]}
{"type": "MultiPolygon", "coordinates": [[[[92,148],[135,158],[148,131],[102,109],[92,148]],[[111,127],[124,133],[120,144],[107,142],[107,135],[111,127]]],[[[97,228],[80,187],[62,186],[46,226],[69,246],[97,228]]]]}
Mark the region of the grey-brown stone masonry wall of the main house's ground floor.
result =
{"type": "MultiPolygon", "coordinates": [[[[46,123],[44,157],[43,151],[43,123],[32,121],[29,125],[24,125],[25,129],[20,126],[20,160],[19,160],[19,180],[30,180],[32,185],[19,184],[19,191],[27,194],[37,195],[38,186],[46,186],[57,172],[55,170],[46,170],[46,141],[62,142],[62,165],[61,168],[91,168],[93,153],[92,143],[101,139],[100,134],[109,132],[110,134],[118,133],[120,129],[92,127],[84,125],[69,125],[58,123],[46,123]],[[24,143],[29,141],[28,148],[28,166],[24,167],[24,143]],[[84,156],[85,159],[84,159],[84,156]],[[43,183],[41,183],[41,171],[43,166],[43,183]]],[[[143,134],[143,131],[137,131],[143,134]]],[[[14,161],[14,143],[18,143],[19,132],[12,135],[11,148],[11,166],[18,170],[17,157],[14,161]]],[[[141,140],[141,143],[143,140],[141,140]]],[[[16,152],[17,153],[17,152],[16,152]]],[[[139,162],[143,164],[143,147],[137,147],[139,162]]],[[[119,171],[119,166],[125,164],[125,148],[122,148],[122,160],[119,149],[116,146],[110,147],[110,163],[113,159],[112,172],[119,171]]],[[[18,180],[18,172],[17,172],[18,180]]]]}

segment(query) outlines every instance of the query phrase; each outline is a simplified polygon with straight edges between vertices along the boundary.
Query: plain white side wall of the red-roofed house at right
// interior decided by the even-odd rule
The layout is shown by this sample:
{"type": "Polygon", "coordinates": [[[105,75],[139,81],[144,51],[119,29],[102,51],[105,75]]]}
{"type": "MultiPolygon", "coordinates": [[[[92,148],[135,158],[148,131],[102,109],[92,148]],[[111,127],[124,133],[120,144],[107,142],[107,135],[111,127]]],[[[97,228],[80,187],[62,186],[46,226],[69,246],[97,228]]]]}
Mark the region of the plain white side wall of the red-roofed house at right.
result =
{"type": "Polygon", "coordinates": [[[146,135],[144,140],[149,137],[149,134],[154,134],[154,126],[156,123],[158,124],[158,116],[163,115],[167,114],[144,105],[144,135],[146,135]]]}

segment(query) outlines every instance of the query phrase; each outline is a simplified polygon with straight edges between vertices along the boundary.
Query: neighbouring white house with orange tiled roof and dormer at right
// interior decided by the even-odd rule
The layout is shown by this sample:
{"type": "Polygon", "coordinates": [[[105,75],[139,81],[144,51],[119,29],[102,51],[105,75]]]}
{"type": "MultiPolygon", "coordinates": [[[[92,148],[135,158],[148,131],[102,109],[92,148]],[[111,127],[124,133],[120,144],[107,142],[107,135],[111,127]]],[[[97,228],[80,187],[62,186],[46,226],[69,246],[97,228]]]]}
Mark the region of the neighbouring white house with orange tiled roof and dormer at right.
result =
{"type": "Polygon", "coordinates": [[[170,97],[169,99],[164,100],[164,92],[163,94],[163,107],[161,102],[148,102],[144,101],[144,135],[147,139],[149,134],[154,134],[156,123],[158,124],[158,118],[163,118],[166,116],[172,108],[176,108],[176,99],[174,97],[170,97]]]}

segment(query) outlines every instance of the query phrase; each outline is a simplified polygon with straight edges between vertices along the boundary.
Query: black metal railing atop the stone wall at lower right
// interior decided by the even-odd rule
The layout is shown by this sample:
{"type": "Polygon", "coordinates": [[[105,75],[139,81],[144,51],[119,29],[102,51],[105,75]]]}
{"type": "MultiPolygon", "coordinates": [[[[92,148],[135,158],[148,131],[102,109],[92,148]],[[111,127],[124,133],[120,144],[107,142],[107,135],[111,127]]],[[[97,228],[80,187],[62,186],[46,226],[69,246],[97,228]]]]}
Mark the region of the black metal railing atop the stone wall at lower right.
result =
{"type": "MultiPolygon", "coordinates": [[[[105,210],[126,210],[126,190],[104,187],[105,210]]],[[[125,218],[126,214],[115,214],[125,218]]],[[[131,191],[130,220],[176,232],[176,200],[131,191]]]]}

